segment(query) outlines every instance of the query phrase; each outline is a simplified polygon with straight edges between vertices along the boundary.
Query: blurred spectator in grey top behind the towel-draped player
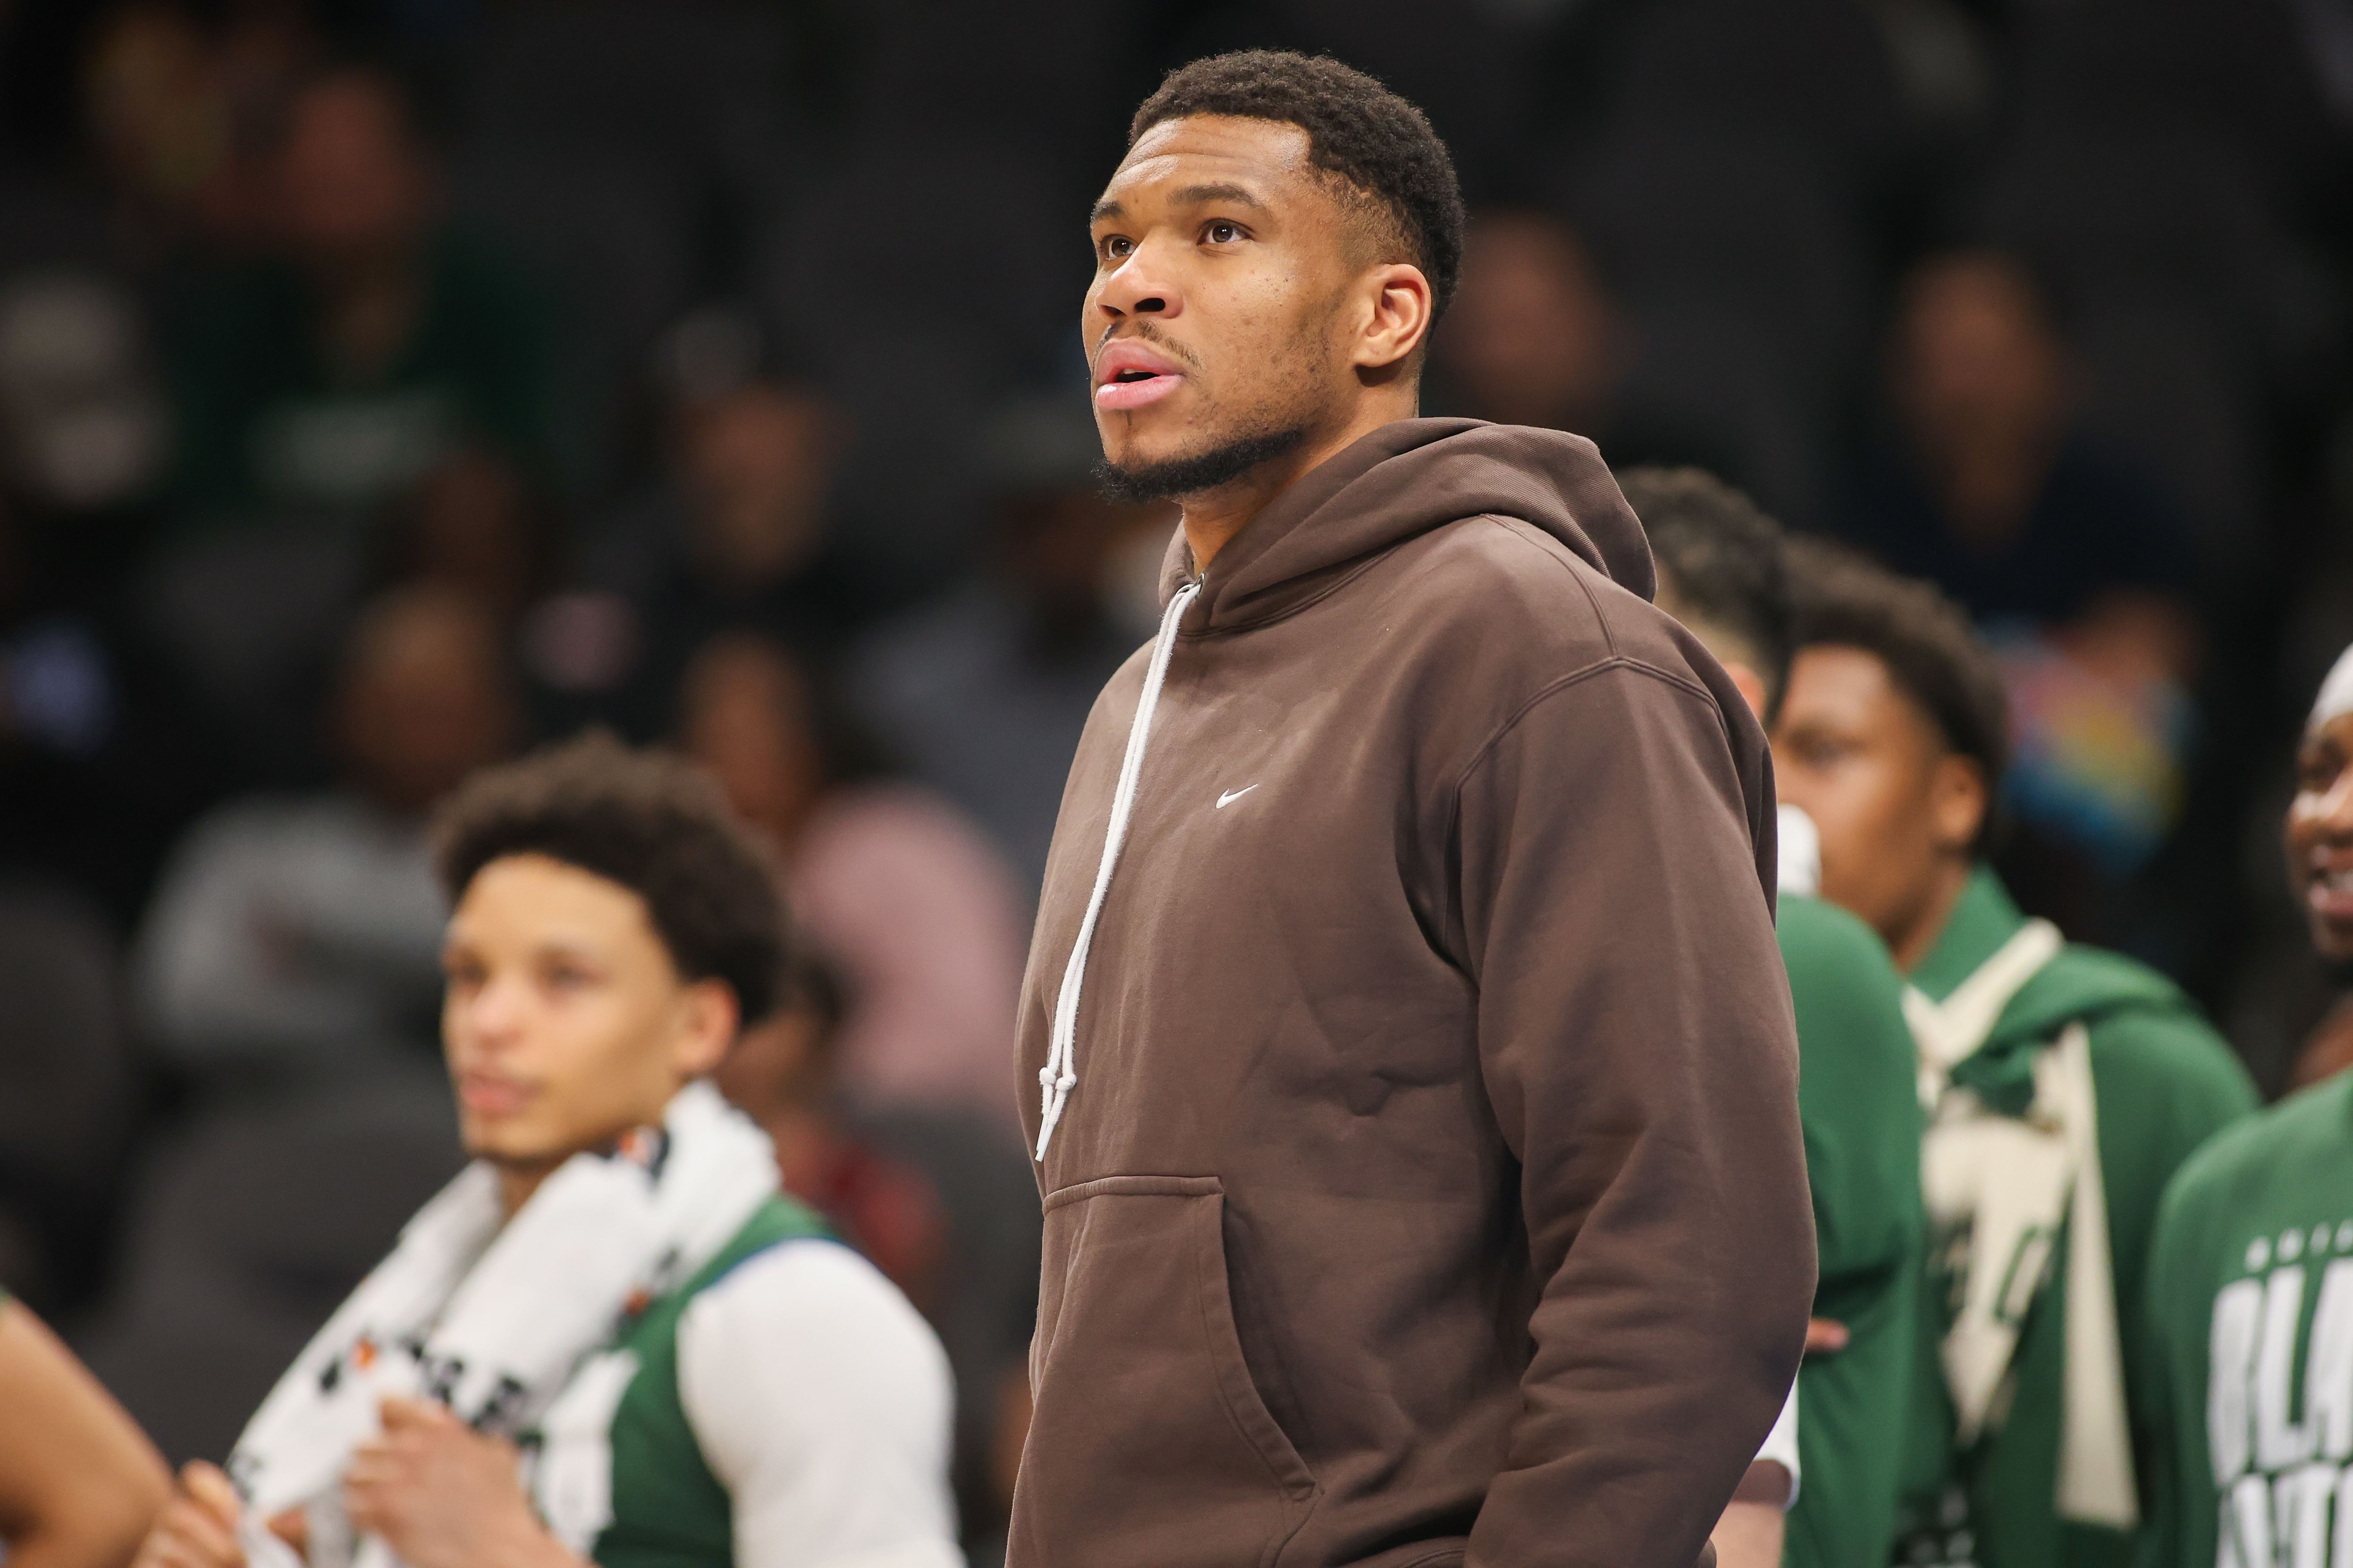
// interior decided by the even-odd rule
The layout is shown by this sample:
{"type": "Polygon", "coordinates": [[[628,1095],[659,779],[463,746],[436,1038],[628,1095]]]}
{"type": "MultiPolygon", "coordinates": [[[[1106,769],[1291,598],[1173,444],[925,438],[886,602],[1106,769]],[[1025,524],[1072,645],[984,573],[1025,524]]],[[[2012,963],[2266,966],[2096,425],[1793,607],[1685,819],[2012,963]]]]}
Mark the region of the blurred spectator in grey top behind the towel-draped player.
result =
{"type": "Polygon", "coordinates": [[[447,912],[424,818],[515,738],[496,625],[433,588],[376,602],[351,635],[332,729],[336,790],[231,802],[165,870],[134,966],[184,1067],[431,1048],[447,912]]]}

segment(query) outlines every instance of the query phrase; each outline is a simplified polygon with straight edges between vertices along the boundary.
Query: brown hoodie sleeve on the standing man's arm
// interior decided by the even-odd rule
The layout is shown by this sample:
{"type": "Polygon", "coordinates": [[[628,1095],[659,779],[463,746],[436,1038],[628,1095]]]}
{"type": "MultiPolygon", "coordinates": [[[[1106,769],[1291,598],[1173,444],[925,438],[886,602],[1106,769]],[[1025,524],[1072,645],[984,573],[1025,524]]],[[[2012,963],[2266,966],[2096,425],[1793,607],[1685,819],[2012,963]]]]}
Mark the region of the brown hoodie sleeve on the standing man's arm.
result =
{"type": "Polygon", "coordinates": [[[1725,712],[1614,661],[1459,785],[1480,1067],[1541,1291],[1468,1568],[1685,1568],[1798,1371],[1814,1229],[1758,875],[1772,778],[1725,712]]]}

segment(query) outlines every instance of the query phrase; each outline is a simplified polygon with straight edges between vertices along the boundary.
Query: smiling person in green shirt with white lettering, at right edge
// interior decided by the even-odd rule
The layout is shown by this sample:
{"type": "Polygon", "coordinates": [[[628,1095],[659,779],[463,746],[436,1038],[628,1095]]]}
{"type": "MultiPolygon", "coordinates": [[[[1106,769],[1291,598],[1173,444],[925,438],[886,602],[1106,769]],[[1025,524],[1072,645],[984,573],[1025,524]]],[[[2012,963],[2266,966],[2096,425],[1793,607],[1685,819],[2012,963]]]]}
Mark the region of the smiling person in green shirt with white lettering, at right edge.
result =
{"type": "MultiPolygon", "coordinates": [[[[2353,649],[2304,726],[2285,844],[2313,947],[2353,961],[2353,649]]],[[[2353,1074],[2181,1166],[2148,1258],[2146,1375],[2141,1568],[2353,1561],[2353,1074]]]]}

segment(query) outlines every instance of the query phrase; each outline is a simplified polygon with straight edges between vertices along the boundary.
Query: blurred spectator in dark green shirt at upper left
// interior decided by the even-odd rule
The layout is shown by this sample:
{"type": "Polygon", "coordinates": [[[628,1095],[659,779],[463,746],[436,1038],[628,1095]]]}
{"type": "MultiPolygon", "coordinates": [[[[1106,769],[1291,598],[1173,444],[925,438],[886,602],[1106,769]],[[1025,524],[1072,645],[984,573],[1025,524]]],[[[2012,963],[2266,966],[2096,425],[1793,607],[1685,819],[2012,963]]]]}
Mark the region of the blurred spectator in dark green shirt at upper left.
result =
{"type": "Polygon", "coordinates": [[[268,155],[268,249],[188,303],[179,494],[198,512],[348,512],[461,444],[544,473],[548,336],[529,284],[442,221],[400,85],[313,75],[268,155]]]}

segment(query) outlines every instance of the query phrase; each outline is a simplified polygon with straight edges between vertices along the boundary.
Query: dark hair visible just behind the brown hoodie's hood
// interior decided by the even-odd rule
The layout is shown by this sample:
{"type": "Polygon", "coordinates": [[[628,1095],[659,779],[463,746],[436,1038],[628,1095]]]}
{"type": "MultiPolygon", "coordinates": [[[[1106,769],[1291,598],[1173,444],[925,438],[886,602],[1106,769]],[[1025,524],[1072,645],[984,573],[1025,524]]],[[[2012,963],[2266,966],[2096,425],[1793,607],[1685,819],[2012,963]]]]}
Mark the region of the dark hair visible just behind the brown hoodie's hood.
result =
{"type": "Polygon", "coordinates": [[[1661,609],[1701,639],[1734,644],[1765,679],[1760,717],[1772,724],[1788,684],[1791,637],[1781,524],[1706,468],[1628,468],[1619,489],[1649,536],[1661,609]]]}

